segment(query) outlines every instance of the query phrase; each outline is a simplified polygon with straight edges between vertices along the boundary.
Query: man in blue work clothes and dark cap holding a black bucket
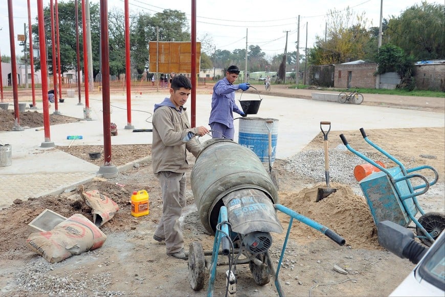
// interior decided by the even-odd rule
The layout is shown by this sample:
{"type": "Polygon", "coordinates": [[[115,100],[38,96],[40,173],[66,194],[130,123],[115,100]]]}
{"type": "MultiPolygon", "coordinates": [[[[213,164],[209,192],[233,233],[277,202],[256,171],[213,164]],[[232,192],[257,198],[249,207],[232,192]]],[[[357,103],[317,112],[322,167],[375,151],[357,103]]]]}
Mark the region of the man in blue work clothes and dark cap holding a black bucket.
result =
{"type": "Polygon", "coordinates": [[[239,68],[232,65],[227,69],[226,77],[218,80],[213,86],[212,111],[209,125],[213,138],[227,138],[233,140],[235,128],[233,126],[233,112],[245,117],[246,114],[238,108],[235,102],[235,91],[249,89],[249,83],[233,84],[238,78],[239,68]]]}

